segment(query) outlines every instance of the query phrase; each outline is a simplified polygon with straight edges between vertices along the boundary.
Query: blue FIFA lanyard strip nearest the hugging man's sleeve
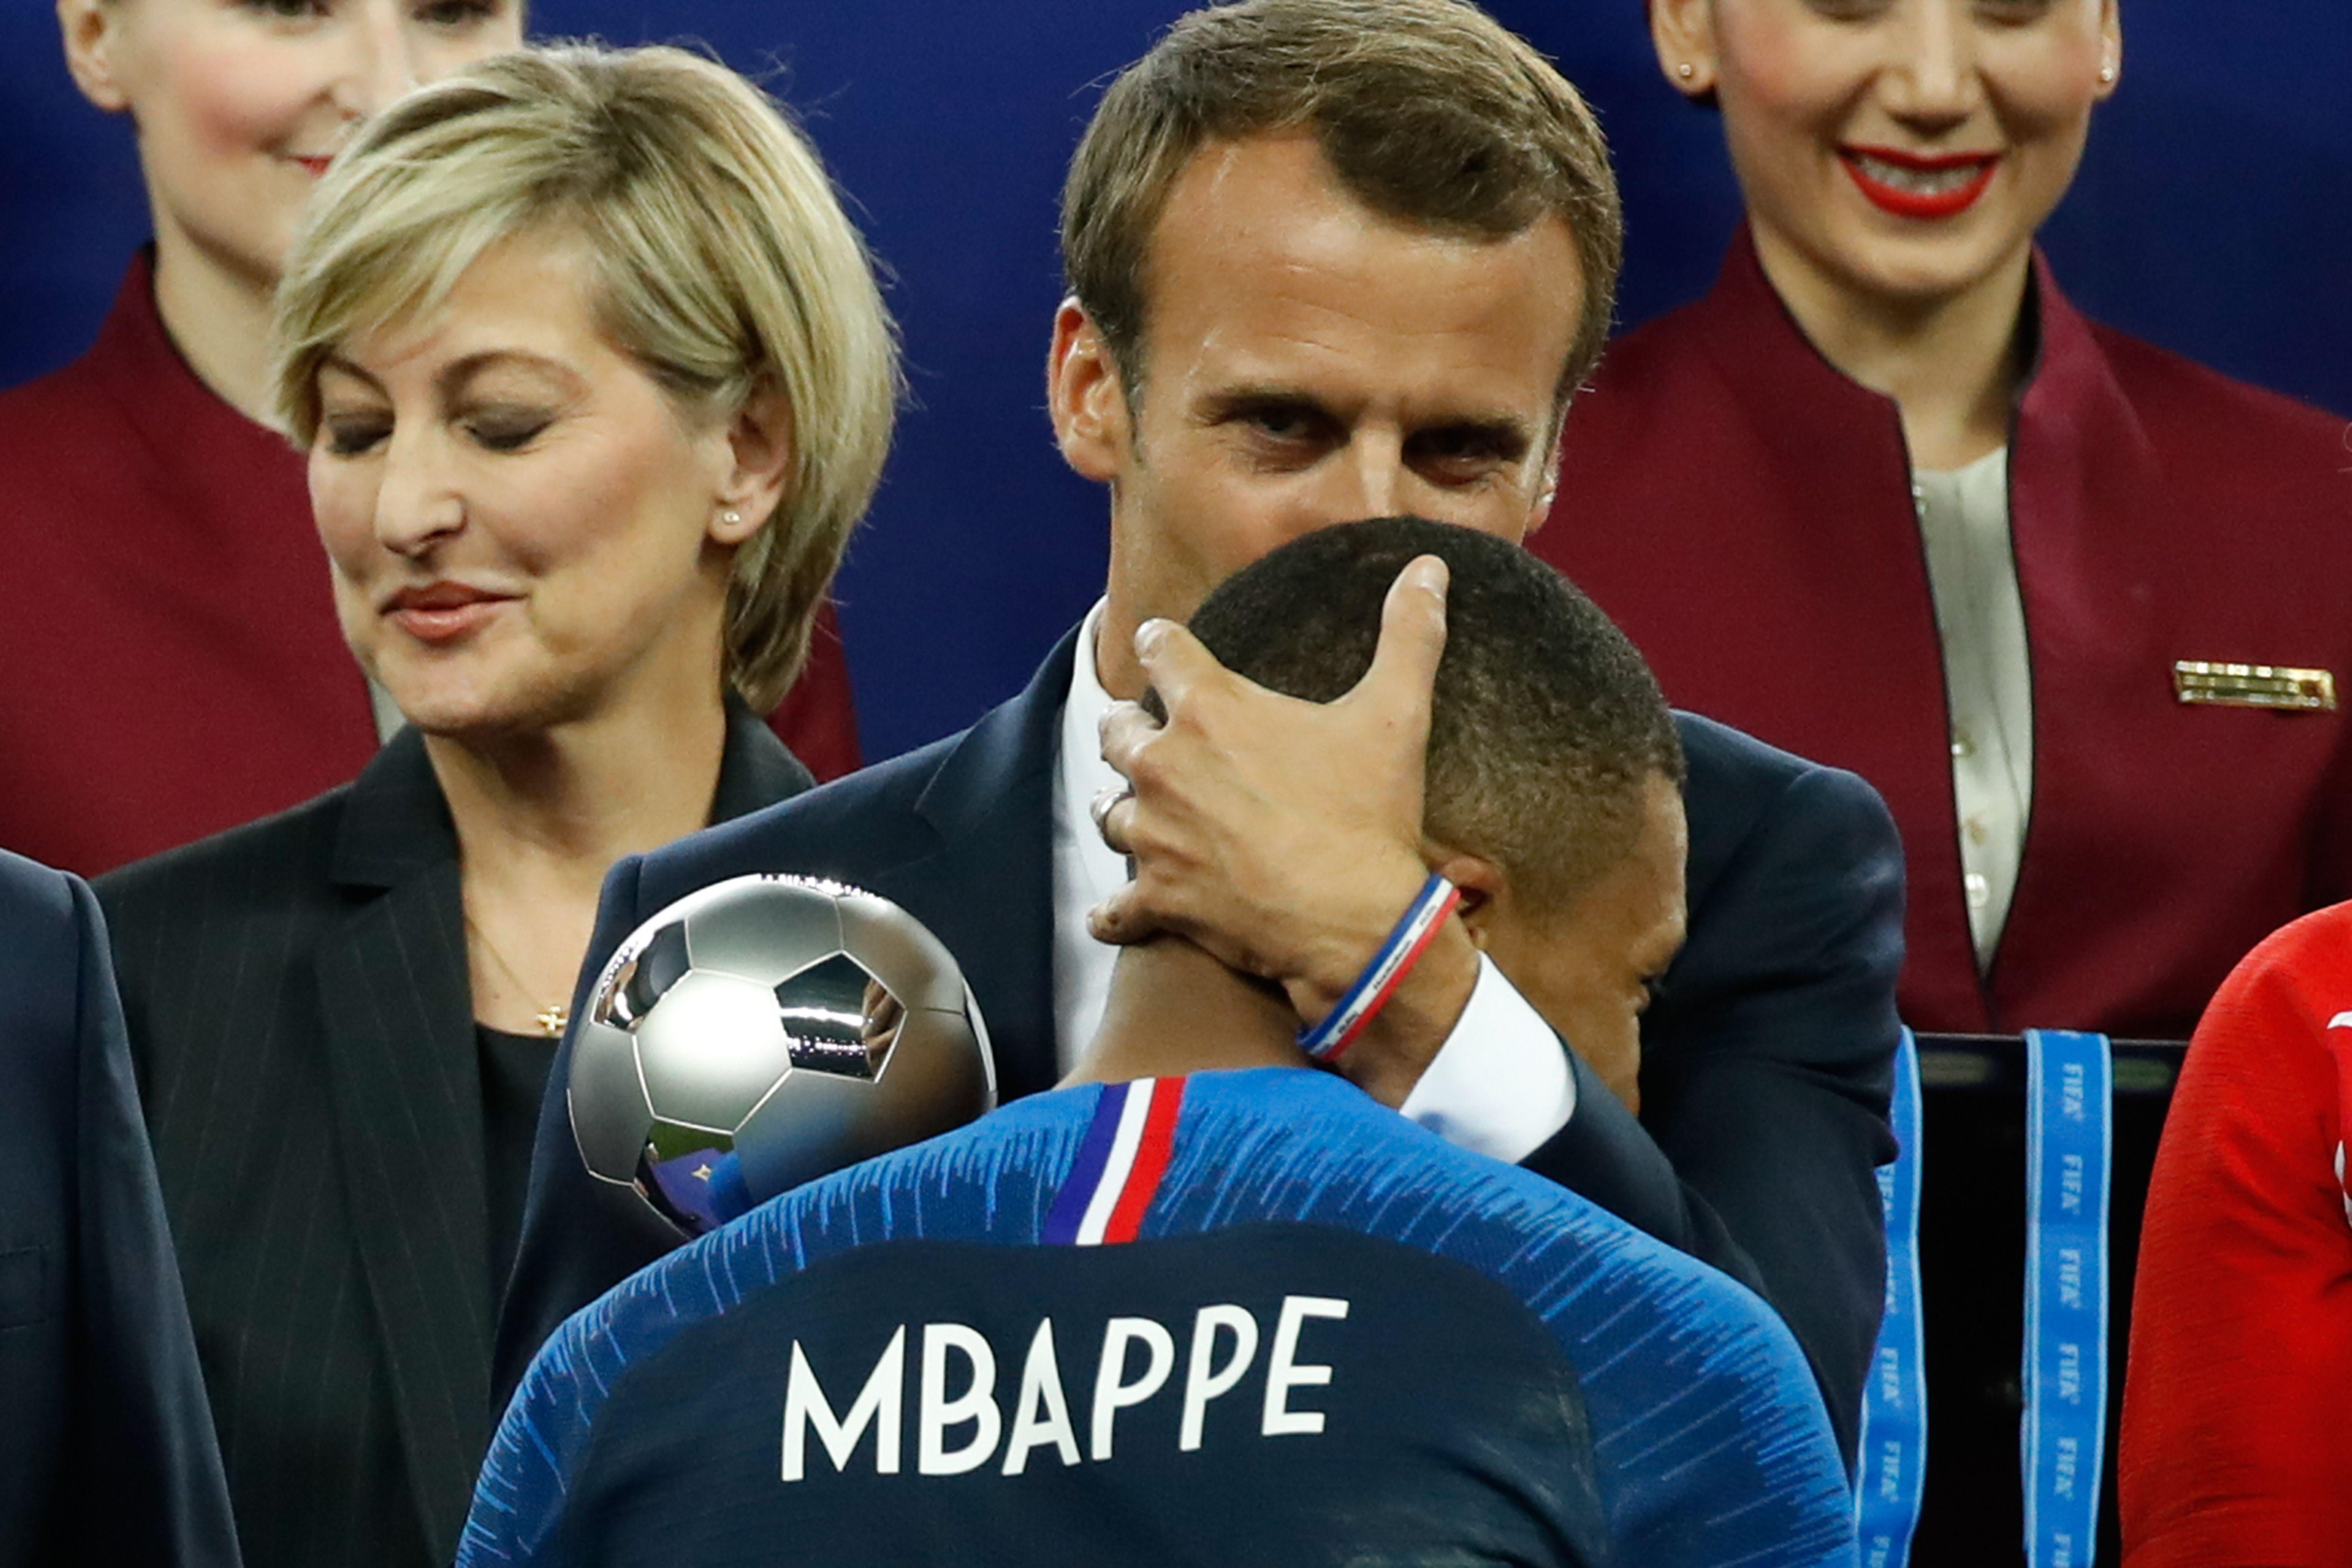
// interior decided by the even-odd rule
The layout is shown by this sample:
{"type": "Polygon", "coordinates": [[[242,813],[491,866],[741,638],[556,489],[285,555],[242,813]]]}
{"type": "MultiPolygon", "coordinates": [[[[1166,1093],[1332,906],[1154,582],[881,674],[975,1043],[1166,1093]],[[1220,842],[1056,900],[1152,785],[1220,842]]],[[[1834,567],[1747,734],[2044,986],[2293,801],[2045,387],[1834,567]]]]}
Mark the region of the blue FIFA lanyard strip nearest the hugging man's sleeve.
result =
{"type": "Polygon", "coordinates": [[[1896,1161],[1879,1166],[1886,1213],[1886,1309],[1863,1385],[1860,1462],[1853,1519],[1863,1568],[1903,1568],[1926,1493],[1926,1321],[1919,1312],[1919,1046],[1896,1044],[1896,1161]]]}

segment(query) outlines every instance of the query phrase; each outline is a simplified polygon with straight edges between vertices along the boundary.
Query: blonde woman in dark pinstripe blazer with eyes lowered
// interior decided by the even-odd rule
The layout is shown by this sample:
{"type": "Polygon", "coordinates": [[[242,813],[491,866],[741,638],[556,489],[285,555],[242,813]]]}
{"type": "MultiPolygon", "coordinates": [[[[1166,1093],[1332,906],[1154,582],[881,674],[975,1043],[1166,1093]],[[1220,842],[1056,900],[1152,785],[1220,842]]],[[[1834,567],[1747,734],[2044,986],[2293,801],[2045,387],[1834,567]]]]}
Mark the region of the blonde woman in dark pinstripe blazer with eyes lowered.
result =
{"type": "Polygon", "coordinates": [[[343,635],[409,731],[101,898],[249,1561],[421,1566],[489,1436],[597,886],[807,785],[753,708],[873,496],[896,348],[767,96],[588,45],[369,122],[278,339],[343,635]]]}

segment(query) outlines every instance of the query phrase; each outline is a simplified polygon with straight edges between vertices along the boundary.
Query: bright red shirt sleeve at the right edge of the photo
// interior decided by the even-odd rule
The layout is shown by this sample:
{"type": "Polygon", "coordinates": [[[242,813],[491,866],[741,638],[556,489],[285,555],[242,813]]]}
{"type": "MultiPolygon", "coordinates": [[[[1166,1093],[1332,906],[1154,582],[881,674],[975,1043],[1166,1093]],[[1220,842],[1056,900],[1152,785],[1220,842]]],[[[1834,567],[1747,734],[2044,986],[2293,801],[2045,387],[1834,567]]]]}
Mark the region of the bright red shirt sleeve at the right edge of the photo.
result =
{"type": "Polygon", "coordinates": [[[2352,1563],[2347,1051],[2352,905],[2256,947],[2197,1025],[2140,1232],[2124,1568],[2352,1563]]]}

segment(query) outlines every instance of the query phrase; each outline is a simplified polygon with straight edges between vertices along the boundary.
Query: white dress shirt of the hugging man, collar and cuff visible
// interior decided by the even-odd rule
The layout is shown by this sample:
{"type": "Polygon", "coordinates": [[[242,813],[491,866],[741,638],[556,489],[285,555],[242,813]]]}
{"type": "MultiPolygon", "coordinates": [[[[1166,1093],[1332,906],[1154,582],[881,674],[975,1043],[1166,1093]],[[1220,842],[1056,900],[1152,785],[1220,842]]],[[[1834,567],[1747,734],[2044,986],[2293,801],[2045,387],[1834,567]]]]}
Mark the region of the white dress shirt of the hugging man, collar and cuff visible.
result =
{"type": "MultiPolygon", "coordinates": [[[[1094,830],[1094,797],[1122,788],[1103,762],[1110,693],[1094,665],[1098,602],[1077,632],[1054,769],[1054,1060],[1063,1072],[1103,1023],[1120,957],[1087,933],[1087,910],[1127,884],[1127,858],[1094,830]]],[[[1397,910],[1404,914],[1404,910],[1397,910]]],[[[1446,1143],[1517,1164],[1569,1124],[1576,1077],[1543,1016],[1479,954],[1477,985],[1454,1034],[1404,1100],[1404,1114],[1446,1143]]]]}

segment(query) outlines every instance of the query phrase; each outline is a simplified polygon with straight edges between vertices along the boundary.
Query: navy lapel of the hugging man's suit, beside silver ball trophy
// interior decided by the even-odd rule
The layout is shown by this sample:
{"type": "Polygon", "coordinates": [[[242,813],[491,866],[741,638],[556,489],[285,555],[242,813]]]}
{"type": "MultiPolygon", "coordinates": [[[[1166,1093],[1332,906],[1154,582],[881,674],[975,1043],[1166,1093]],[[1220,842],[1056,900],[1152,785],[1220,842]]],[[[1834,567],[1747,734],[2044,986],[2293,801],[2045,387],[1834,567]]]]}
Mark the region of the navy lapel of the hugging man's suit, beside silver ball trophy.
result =
{"type": "Polygon", "coordinates": [[[1077,632],[1028,689],[974,724],[915,802],[938,851],[875,877],[964,966],[988,1020],[1004,1100],[1051,1088],[1054,766],[1077,632]]]}

